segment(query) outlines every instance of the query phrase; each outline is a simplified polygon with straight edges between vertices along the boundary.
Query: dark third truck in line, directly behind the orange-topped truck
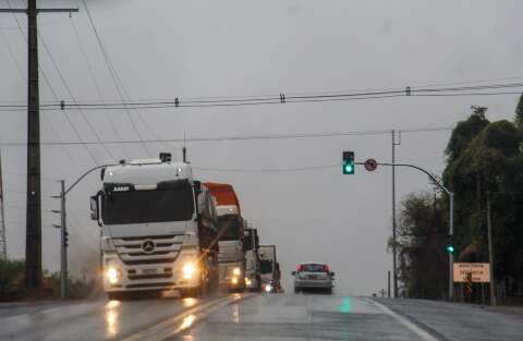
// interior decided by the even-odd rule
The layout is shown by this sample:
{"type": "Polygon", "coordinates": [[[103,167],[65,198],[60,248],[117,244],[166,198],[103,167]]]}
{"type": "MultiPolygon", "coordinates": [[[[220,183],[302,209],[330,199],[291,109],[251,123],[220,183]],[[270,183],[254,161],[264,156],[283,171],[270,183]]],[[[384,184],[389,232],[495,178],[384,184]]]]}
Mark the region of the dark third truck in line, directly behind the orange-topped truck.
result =
{"type": "Polygon", "coordinates": [[[262,290],[262,272],[258,257],[259,238],[257,229],[245,229],[245,287],[250,291],[262,290]]]}

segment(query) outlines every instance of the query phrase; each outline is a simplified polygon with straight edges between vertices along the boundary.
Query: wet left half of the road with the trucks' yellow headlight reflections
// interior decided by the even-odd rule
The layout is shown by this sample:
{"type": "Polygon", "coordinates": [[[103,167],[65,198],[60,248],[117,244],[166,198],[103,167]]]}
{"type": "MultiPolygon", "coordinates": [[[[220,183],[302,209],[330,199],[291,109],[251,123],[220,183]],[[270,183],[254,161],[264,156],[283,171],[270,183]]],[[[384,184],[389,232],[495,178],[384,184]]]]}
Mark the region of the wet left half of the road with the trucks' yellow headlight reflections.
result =
{"type": "Polygon", "coordinates": [[[161,299],[0,304],[0,340],[121,340],[211,301],[161,299]]]}

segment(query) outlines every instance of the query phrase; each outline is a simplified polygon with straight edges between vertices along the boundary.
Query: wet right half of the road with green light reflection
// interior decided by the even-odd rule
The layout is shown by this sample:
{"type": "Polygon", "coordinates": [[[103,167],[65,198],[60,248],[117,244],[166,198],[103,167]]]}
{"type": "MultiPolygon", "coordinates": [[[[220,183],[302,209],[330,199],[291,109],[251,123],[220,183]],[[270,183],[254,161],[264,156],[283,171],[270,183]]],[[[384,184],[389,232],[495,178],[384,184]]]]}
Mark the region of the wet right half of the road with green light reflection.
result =
{"type": "Polygon", "coordinates": [[[196,317],[170,340],[523,341],[523,315],[445,302],[273,294],[196,317]]]}

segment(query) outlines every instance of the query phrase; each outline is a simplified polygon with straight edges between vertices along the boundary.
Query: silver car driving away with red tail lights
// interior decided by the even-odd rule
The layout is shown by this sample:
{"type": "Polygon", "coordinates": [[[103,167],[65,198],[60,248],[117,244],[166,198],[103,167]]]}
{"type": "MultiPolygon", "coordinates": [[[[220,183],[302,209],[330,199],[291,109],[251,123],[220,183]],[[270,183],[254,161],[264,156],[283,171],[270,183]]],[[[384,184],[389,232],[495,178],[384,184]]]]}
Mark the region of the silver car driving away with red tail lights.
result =
{"type": "Polygon", "coordinates": [[[296,271],[292,271],[292,276],[295,293],[304,290],[325,290],[332,293],[335,272],[330,271],[325,263],[303,263],[297,266],[296,271]]]}

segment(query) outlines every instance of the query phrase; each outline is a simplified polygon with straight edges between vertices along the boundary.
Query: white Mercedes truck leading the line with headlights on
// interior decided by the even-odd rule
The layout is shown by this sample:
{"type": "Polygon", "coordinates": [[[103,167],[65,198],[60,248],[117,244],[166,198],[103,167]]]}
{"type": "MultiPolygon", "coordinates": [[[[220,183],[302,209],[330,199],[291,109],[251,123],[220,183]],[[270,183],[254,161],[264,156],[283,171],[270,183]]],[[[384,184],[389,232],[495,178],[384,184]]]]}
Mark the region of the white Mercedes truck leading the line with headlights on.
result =
{"type": "Polygon", "coordinates": [[[104,168],[101,181],[90,208],[101,227],[109,299],[144,291],[198,296],[217,287],[215,200],[190,165],[160,154],[104,168]]]}

